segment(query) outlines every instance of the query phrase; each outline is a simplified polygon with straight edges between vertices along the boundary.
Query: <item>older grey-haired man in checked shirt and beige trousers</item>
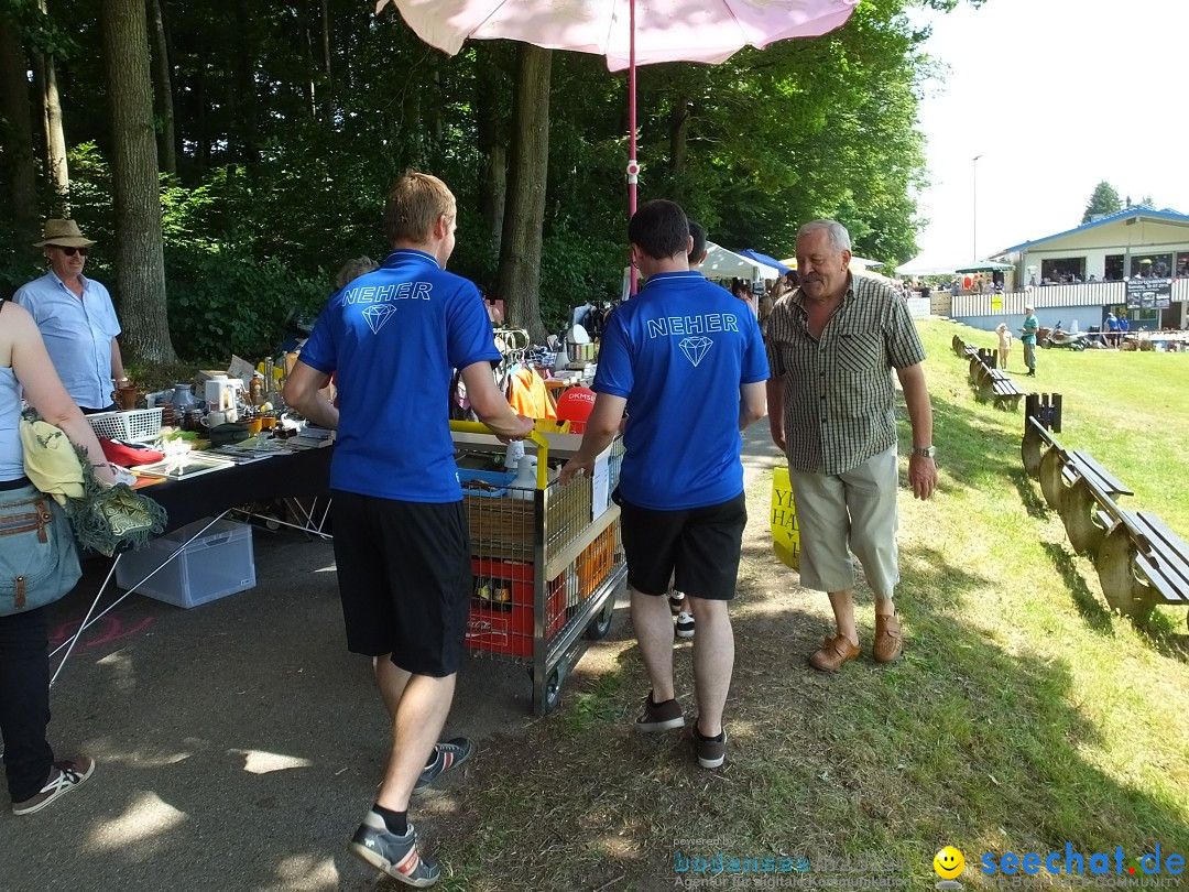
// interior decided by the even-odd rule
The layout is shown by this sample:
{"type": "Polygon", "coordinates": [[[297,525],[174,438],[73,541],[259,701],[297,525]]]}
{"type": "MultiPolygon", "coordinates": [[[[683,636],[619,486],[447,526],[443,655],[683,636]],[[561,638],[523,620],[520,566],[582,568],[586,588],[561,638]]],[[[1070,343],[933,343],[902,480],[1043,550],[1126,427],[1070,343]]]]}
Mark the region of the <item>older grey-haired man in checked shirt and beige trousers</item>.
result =
{"type": "Polygon", "coordinates": [[[892,596],[897,552],[895,370],[912,423],[908,480],[917,498],[937,485],[925,351],[904,297],[849,270],[850,234],[832,220],[797,234],[800,288],[768,321],[768,420],[788,458],[801,533],[801,585],[830,596],[838,632],[810,657],[823,672],[860,653],[855,627],[858,558],[875,595],[872,657],[904,649],[892,596]]]}

